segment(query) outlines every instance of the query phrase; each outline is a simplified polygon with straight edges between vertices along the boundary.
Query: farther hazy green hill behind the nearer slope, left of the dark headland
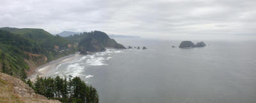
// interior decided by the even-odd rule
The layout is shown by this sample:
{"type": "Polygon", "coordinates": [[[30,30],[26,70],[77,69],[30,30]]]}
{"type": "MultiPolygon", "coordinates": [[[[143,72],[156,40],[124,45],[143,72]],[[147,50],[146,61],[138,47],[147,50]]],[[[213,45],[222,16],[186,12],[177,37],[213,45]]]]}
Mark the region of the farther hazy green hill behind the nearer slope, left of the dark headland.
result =
{"type": "Polygon", "coordinates": [[[61,56],[74,53],[74,48],[68,49],[68,44],[72,44],[72,42],[69,42],[65,38],[61,36],[54,36],[51,35],[51,33],[48,33],[44,29],[33,29],[33,28],[0,28],[4,31],[9,31],[10,33],[21,35],[24,38],[27,38],[29,42],[33,43],[38,47],[40,50],[33,50],[29,52],[34,52],[36,54],[44,54],[44,56],[47,57],[48,61],[51,61],[52,59],[60,58],[61,56]],[[58,47],[58,49],[54,47],[58,47]],[[66,50],[60,53],[60,50],[66,50]]]}

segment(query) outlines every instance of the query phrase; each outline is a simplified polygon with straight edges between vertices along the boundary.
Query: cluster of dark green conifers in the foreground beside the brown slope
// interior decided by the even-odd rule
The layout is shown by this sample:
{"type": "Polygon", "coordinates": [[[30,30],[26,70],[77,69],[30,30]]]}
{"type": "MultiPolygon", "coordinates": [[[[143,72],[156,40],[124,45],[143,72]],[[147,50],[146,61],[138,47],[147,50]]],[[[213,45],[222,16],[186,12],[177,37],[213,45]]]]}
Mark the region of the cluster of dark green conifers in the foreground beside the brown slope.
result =
{"type": "Polygon", "coordinates": [[[37,77],[32,83],[27,81],[35,93],[44,95],[49,99],[58,99],[61,102],[97,103],[99,96],[97,90],[84,83],[80,77],[37,77]]]}

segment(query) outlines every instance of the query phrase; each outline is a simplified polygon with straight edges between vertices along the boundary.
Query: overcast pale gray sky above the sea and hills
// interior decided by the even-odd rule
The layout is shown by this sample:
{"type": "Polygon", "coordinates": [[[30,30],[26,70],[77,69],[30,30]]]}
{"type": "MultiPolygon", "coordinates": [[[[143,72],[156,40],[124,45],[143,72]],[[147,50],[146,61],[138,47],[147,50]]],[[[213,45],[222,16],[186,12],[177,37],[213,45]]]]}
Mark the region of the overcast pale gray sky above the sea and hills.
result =
{"type": "Polygon", "coordinates": [[[256,36],[256,0],[0,0],[0,27],[143,38],[256,36]]]}

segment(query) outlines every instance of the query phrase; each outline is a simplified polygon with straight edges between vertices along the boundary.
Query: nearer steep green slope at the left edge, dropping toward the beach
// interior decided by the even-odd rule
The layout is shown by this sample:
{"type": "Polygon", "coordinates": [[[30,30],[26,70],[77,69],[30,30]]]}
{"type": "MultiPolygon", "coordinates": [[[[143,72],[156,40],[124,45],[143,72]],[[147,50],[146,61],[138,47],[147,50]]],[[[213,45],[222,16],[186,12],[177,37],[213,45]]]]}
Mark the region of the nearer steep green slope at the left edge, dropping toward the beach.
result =
{"type": "Polygon", "coordinates": [[[0,30],[0,63],[2,72],[15,77],[26,78],[24,70],[28,70],[28,64],[24,58],[28,56],[24,51],[38,52],[40,48],[21,35],[15,35],[8,31],[0,30]]]}

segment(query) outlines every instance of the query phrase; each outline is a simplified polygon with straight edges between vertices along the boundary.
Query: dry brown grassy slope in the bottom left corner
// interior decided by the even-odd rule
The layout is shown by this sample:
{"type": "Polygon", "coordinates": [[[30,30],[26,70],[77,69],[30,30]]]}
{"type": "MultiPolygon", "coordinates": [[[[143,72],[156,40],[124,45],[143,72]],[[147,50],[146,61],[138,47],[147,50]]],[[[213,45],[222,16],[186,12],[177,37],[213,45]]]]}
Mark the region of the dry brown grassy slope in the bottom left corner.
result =
{"type": "Polygon", "coordinates": [[[0,102],[60,103],[58,100],[49,100],[36,94],[28,84],[3,73],[0,73],[0,102]]]}

